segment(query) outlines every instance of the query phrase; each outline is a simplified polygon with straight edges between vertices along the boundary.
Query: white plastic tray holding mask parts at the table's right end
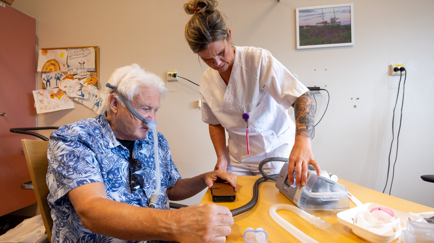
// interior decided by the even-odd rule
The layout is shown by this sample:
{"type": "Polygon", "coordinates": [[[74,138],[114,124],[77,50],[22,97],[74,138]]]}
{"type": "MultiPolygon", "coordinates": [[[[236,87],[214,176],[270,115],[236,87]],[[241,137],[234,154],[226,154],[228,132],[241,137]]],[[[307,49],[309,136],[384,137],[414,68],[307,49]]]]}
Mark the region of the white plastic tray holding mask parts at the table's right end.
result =
{"type": "Polygon", "coordinates": [[[369,210],[374,207],[385,207],[385,206],[382,206],[380,204],[375,204],[375,203],[365,203],[362,206],[353,207],[351,209],[339,212],[338,214],[336,214],[336,216],[338,217],[338,221],[348,226],[352,230],[352,232],[355,233],[355,235],[357,235],[358,237],[362,237],[365,240],[368,240],[373,243],[388,243],[400,237],[401,231],[405,229],[407,220],[409,219],[412,221],[423,222],[423,219],[421,217],[404,213],[391,208],[391,210],[395,213],[395,216],[399,217],[401,220],[400,230],[394,231],[393,229],[391,229],[385,233],[377,234],[354,224],[353,219],[355,218],[356,214],[365,210],[369,210]]]}

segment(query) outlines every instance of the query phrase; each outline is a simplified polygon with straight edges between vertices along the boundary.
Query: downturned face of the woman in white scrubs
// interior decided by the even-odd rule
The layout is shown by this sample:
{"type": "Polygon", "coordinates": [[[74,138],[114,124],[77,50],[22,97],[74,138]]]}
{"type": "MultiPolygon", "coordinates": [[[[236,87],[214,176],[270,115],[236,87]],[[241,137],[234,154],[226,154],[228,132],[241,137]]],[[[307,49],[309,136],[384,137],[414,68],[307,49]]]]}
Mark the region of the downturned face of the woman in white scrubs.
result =
{"type": "Polygon", "coordinates": [[[225,72],[233,64],[234,54],[229,40],[211,42],[208,48],[197,53],[210,68],[225,72]]]}

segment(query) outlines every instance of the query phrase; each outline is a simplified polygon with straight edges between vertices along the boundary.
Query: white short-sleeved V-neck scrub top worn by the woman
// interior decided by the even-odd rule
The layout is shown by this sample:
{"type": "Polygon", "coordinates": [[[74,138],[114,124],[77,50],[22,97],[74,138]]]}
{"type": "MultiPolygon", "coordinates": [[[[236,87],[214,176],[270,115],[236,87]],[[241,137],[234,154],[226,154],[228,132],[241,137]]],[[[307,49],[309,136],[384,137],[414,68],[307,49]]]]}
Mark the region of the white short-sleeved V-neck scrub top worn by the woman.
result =
{"type": "MultiPolygon", "coordinates": [[[[261,48],[235,47],[228,85],[218,71],[208,68],[200,85],[202,120],[212,125],[221,124],[227,130],[228,168],[242,163],[256,167],[257,172],[263,159],[288,158],[294,145],[295,124],[287,109],[306,91],[306,86],[269,51],[261,48]],[[243,113],[250,115],[250,154],[247,154],[243,113]]],[[[264,168],[281,168],[282,165],[283,162],[269,162],[264,168]]]]}

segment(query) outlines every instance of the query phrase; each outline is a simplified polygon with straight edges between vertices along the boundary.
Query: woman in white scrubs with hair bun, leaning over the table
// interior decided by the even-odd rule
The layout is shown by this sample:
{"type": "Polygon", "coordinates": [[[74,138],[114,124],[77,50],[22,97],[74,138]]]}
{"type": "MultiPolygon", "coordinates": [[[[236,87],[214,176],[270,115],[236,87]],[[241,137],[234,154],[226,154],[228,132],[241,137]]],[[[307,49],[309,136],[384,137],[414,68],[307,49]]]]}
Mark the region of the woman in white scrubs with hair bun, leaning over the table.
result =
{"type": "MultiPolygon", "coordinates": [[[[199,89],[202,120],[209,124],[217,154],[214,169],[258,175],[263,159],[286,157],[289,175],[296,172],[296,185],[306,185],[309,164],[318,174],[321,171],[311,149],[315,105],[308,88],[269,51],[232,46],[231,31],[216,6],[216,0],[184,4],[184,10],[192,15],[185,26],[185,39],[210,67],[199,89]],[[296,124],[287,112],[291,106],[296,124]],[[244,113],[248,116],[243,117],[244,113]],[[225,129],[229,134],[227,146],[225,129]]],[[[278,174],[282,166],[283,162],[270,162],[264,170],[278,174]]]]}

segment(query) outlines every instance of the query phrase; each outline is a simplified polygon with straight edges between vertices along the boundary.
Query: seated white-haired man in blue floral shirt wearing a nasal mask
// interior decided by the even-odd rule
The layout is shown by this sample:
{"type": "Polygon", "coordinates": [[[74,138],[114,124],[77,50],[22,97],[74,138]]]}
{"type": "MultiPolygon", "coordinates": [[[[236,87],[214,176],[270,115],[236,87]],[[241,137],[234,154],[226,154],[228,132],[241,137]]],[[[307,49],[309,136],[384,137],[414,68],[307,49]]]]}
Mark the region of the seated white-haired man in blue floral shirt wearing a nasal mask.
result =
{"type": "Polygon", "coordinates": [[[52,242],[224,242],[233,224],[227,207],[162,209],[169,209],[169,199],[189,198],[219,178],[236,189],[236,176],[217,170],[181,179],[167,140],[158,133],[156,178],[154,136],[145,123],[155,122],[167,93],[163,81],[133,64],[116,69],[108,83],[105,113],[50,136],[52,242]]]}

